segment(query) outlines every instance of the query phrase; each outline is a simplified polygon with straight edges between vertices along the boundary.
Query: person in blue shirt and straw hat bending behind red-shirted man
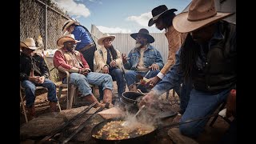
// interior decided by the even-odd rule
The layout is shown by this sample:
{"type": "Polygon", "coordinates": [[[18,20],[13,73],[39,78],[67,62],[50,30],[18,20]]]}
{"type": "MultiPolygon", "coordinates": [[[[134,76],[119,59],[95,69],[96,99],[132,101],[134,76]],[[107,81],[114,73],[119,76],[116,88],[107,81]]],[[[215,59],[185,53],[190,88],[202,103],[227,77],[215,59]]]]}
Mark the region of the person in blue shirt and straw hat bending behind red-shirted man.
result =
{"type": "Polygon", "coordinates": [[[74,34],[74,39],[81,41],[75,46],[75,50],[82,53],[83,58],[88,62],[90,69],[94,71],[94,52],[97,48],[89,30],[87,30],[85,26],[80,25],[79,22],[70,19],[64,22],[62,33],[63,35],[74,34]]]}

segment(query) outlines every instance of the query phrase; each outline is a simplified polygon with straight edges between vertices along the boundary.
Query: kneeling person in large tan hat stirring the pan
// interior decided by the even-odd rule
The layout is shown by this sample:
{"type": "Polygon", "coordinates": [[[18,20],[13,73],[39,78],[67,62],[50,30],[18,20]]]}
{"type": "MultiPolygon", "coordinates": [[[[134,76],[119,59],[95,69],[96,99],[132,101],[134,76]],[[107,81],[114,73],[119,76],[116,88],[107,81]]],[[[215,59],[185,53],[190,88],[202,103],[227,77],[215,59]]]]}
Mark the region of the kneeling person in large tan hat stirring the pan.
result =
{"type": "MultiPolygon", "coordinates": [[[[188,12],[178,14],[174,29],[188,35],[176,54],[175,65],[139,105],[152,105],[154,98],[174,88],[182,78],[191,78],[193,89],[181,122],[213,114],[237,81],[236,26],[222,20],[231,14],[217,12],[214,0],[193,0],[188,12]]],[[[208,120],[186,123],[179,130],[195,138],[208,120]]]]}

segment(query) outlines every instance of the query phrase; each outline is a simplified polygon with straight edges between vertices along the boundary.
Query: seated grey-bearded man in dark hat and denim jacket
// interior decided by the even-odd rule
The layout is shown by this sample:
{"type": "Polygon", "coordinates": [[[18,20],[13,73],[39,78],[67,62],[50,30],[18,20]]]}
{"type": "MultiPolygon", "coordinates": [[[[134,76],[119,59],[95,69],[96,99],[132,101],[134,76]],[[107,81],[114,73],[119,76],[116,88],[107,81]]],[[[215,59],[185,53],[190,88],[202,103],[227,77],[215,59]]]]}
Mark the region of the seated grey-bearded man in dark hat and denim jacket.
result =
{"type": "MultiPolygon", "coordinates": [[[[130,34],[136,40],[136,46],[130,50],[128,58],[126,54],[122,54],[122,62],[126,68],[126,84],[130,91],[137,91],[136,75],[141,74],[143,77],[152,78],[156,76],[162,69],[162,55],[160,52],[151,46],[154,38],[149,34],[149,31],[142,28],[138,33],[130,34]]],[[[138,89],[146,93],[145,86],[138,86],[138,89]]]]}

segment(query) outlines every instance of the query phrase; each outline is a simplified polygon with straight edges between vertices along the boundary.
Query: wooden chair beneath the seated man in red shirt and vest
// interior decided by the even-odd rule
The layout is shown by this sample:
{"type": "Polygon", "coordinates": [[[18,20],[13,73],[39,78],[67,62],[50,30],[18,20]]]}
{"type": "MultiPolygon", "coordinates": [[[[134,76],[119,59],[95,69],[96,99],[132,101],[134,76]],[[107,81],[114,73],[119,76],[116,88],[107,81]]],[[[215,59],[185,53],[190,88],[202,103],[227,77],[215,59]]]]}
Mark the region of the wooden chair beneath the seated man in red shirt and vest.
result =
{"type": "MultiPolygon", "coordinates": [[[[61,98],[62,95],[62,90],[63,89],[67,89],[66,92],[66,110],[70,110],[74,105],[77,104],[78,100],[78,86],[74,86],[73,84],[70,83],[70,72],[63,70],[62,72],[64,72],[66,74],[66,83],[62,83],[59,88],[58,88],[58,99],[61,98]]],[[[93,89],[93,93],[95,92],[95,86],[94,85],[90,85],[90,87],[93,89]]]]}

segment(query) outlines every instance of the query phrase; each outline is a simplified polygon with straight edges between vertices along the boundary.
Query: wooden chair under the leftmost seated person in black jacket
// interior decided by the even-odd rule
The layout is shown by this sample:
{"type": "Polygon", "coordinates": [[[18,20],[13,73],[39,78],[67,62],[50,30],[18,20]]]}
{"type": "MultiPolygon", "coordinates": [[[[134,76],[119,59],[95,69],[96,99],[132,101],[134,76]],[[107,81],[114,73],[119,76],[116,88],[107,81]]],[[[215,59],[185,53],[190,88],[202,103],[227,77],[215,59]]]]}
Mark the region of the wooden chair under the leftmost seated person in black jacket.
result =
{"type": "MultiPolygon", "coordinates": [[[[46,89],[46,87],[42,87],[42,86],[36,86],[36,90],[42,90],[42,89],[44,89],[44,90],[47,90],[46,89]]],[[[24,114],[24,117],[25,117],[25,121],[26,122],[28,122],[28,118],[27,118],[27,115],[26,115],[26,106],[25,106],[25,100],[26,100],[26,95],[24,94],[24,95],[22,95],[22,90],[24,91],[25,89],[22,87],[22,85],[20,85],[20,98],[21,98],[21,106],[22,106],[22,112],[23,112],[23,114],[24,114]]],[[[60,104],[59,104],[59,102],[57,102],[58,103],[58,109],[61,111],[62,109],[61,109],[61,106],[60,106],[60,104]]]]}

